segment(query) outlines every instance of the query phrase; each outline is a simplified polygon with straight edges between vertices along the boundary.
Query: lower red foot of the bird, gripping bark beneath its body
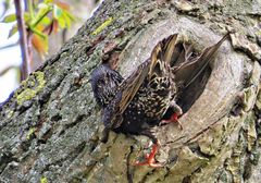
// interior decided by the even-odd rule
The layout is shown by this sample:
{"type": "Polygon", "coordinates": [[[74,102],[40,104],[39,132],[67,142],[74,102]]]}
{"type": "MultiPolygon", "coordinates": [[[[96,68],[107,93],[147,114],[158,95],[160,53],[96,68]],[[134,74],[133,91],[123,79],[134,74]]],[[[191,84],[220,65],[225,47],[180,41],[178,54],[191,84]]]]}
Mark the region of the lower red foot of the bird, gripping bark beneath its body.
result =
{"type": "Polygon", "coordinates": [[[158,146],[159,146],[159,142],[153,144],[150,154],[146,154],[146,156],[145,156],[146,161],[144,161],[144,162],[136,161],[135,166],[147,166],[148,164],[149,167],[152,167],[152,168],[163,167],[163,164],[157,163],[156,159],[154,159],[154,156],[158,151],[158,146]]]}

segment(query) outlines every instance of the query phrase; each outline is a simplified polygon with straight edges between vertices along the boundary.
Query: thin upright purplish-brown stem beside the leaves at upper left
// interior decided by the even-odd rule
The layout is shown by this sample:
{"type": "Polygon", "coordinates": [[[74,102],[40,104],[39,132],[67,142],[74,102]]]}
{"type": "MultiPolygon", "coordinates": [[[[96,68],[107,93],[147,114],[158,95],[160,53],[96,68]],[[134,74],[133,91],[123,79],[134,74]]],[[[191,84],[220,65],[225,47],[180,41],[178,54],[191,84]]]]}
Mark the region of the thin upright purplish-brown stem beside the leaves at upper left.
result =
{"type": "Polygon", "coordinates": [[[29,62],[29,54],[28,54],[28,46],[27,46],[27,35],[25,29],[24,23],[24,11],[21,7],[21,0],[14,0],[15,5],[15,14],[17,20],[17,27],[20,33],[20,47],[22,52],[22,65],[21,65],[21,81],[25,80],[28,75],[28,62],[29,62]]]}

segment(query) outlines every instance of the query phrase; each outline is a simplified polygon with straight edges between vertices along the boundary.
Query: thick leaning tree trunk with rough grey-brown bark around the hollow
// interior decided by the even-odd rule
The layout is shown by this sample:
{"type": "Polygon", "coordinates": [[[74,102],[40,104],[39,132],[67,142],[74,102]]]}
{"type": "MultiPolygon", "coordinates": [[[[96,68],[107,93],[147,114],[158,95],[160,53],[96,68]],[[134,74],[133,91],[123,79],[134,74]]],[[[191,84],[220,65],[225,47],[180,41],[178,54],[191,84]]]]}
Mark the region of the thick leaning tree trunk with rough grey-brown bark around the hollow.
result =
{"type": "MultiPolygon", "coordinates": [[[[0,182],[258,182],[260,1],[105,0],[95,15],[1,107],[0,182]],[[146,137],[111,133],[89,74],[101,60],[127,76],[162,38],[181,33],[195,48],[227,29],[202,94],[176,125],[158,127],[164,168],[133,167],[146,137]]],[[[197,86],[194,86],[194,89],[197,86]]],[[[191,94],[192,95],[192,94],[191,94]]]]}

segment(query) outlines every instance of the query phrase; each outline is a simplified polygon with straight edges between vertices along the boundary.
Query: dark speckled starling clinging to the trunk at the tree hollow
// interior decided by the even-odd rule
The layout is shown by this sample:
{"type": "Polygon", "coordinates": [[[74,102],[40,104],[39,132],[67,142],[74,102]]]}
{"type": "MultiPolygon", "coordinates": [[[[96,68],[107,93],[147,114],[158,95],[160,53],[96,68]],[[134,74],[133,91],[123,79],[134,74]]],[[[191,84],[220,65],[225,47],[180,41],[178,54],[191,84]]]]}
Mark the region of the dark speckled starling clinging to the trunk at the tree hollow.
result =
{"type": "Polygon", "coordinates": [[[148,136],[153,143],[152,150],[146,157],[146,162],[136,164],[162,167],[154,160],[159,141],[151,129],[178,122],[183,112],[175,102],[176,96],[214,60],[217,49],[227,37],[228,34],[197,56],[190,45],[178,39],[177,34],[171,35],[160,41],[150,58],[126,80],[108,64],[102,63],[95,69],[90,77],[95,98],[103,108],[105,129],[102,142],[108,141],[110,130],[148,136]],[[173,114],[170,119],[163,119],[170,109],[173,114]]]}

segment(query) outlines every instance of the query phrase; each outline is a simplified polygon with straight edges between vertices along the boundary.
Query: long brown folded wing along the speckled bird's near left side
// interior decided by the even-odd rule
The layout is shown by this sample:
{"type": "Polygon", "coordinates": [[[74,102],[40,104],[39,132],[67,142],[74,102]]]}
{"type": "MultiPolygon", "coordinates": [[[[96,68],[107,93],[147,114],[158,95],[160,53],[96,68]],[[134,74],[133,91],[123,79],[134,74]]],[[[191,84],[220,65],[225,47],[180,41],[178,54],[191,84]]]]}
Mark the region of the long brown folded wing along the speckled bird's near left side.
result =
{"type": "Polygon", "coordinates": [[[123,81],[115,98],[103,111],[103,123],[108,129],[115,129],[121,125],[123,121],[122,114],[137,94],[146,77],[150,80],[157,63],[162,61],[162,59],[164,59],[165,62],[171,61],[171,50],[174,49],[176,37],[176,34],[171,35],[158,42],[151,52],[150,59],[140,64],[130,76],[123,81]]]}

